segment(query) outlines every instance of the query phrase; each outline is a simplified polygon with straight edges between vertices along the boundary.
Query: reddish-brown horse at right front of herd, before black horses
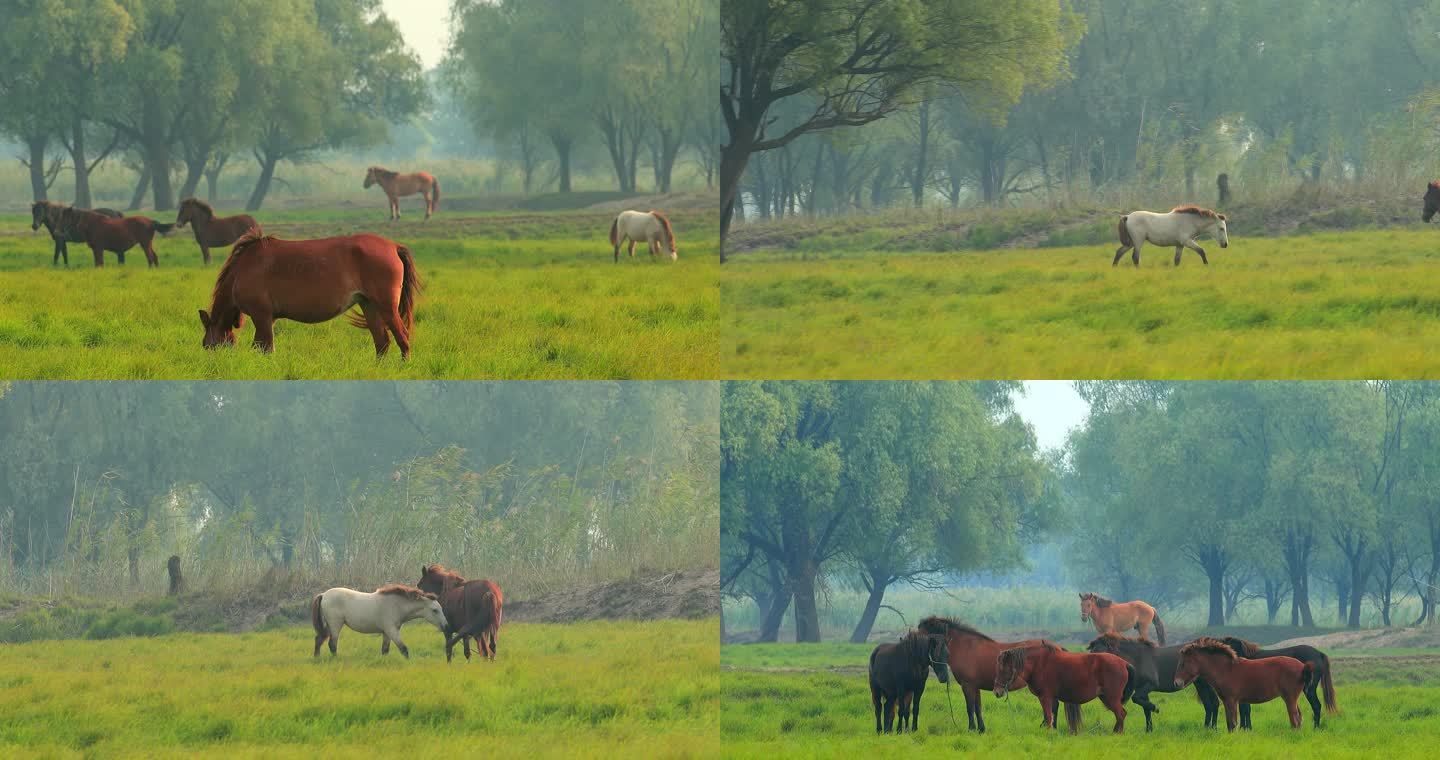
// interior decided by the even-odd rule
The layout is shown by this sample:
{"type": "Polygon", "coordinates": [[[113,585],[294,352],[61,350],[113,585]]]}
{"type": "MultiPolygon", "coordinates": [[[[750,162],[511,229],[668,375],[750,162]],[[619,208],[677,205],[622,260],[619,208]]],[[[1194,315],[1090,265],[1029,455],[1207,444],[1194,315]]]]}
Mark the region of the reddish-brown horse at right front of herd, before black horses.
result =
{"type": "Polygon", "coordinates": [[[1310,682],[1310,664],[1289,656],[1241,659],[1225,642],[1212,638],[1195,639],[1179,651],[1175,685],[1182,687],[1204,678],[1225,704],[1225,725],[1236,730],[1240,702],[1269,702],[1284,700],[1290,714],[1290,728],[1299,728],[1300,692],[1310,682]]]}

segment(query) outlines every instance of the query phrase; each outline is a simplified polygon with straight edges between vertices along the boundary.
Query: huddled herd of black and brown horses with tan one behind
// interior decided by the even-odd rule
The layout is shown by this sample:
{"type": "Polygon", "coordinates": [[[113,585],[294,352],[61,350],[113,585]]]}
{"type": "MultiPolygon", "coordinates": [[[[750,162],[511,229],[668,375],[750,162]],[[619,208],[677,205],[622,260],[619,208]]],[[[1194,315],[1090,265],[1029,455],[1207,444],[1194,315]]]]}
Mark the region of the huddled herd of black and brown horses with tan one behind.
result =
{"type": "Polygon", "coordinates": [[[999,642],[950,618],[932,616],[896,643],[881,643],[870,653],[870,701],[876,733],[919,730],[920,697],[933,671],[936,679],[953,678],[965,695],[969,728],[985,731],[981,691],[1004,698],[1028,688],[1040,701],[1044,727],[1056,727],[1056,711],[1066,705],[1070,733],[1080,728],[1080,705],[1100,700],[1115,715],[1115,733],[1125,731],[1125,702],[1145,711],[1145,730],[1155,728],[1159,708],[1152,692],[1176,692],[1187,687],[1205,708],[1205,727],[1218,724],[1225,708],[1230,731],[1250,728],[1250,705],[1280,698],[1290,727],[1303,723],[1299,700],[1310,704],[1315,727],[1320,727],[1320,695],[1325,710],[1338,712],[1329,658],[1308,645],[1264,649],[1237,636],[1201,636],[1184,645],[1165,646],[1165,628],[1145,602],[1116,603],[1099,594],[1080,594],[1081,620],[1100,633],[1084,652],[1068,652],[1048,639],[999,642]],[[1153,620],[1159,645],[1145,636],[1153,620]],[[1135,629],[1136,638],[1120,632],[1135,629]],[[899,712],[899,723],[896,714],[899,712]]]}

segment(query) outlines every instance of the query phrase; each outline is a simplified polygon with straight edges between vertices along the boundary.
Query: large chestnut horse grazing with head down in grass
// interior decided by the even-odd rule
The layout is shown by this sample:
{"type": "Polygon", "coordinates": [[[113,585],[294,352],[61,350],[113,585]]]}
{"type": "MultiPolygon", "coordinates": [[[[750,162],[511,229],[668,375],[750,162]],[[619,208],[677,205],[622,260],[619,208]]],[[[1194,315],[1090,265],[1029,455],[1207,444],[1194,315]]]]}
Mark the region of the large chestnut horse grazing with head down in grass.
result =
{"type": "Polygon", "coordinates": [[[245,315],[255,320],[255,345],[275,348],[275,320],[317,324],[359,305],[350,324],[370,328],[376,357],[390,347],[410,356],[415,298],[420,278],[410,249],[377,235],[281,240],[259,229],[240,236],[215,278],[210,311],[200,311],[202,345],[233,345],[245,315]]]}

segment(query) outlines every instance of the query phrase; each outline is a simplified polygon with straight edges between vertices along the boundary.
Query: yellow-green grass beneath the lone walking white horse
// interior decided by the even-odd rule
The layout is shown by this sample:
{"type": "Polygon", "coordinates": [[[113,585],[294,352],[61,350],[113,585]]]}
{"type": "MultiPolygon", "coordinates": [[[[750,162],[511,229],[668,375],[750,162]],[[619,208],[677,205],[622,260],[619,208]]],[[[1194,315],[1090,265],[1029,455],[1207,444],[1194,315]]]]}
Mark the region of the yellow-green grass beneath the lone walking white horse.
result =
{"type": "MultiPolygon", "coordinates": [[[[860,246],[864,232],[837,238],[860,246]]],[[[1365,230],[953,253],[756,252],[721,275],[721,361],[752,379],[1434,379],[1440,236],[1365,230]]]]}

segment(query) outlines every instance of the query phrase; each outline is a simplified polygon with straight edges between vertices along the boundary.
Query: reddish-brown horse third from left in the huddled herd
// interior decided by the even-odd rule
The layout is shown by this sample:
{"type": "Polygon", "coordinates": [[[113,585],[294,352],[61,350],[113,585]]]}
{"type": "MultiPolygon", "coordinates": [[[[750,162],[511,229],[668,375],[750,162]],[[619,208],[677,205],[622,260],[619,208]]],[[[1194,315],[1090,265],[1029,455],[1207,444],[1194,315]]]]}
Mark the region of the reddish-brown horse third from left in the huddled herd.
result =
{"type": "Polygon", "coordinates": [[[1125,701],[1135,688],[1135,666],[1119,656],[1066,652],[1053,645],[1015,646],[999,653],[995,671],[995,697],[1030,687],[1045,711],[1045,728],[1056,727],[1056,708],[1066,702],[1070,733],[1079,733],[1079,707],[1099,697],[1115,714],[1115,733],[1125,733],[1125,701]]]}

